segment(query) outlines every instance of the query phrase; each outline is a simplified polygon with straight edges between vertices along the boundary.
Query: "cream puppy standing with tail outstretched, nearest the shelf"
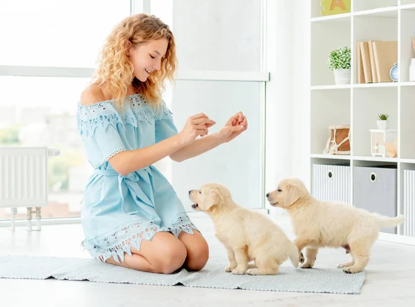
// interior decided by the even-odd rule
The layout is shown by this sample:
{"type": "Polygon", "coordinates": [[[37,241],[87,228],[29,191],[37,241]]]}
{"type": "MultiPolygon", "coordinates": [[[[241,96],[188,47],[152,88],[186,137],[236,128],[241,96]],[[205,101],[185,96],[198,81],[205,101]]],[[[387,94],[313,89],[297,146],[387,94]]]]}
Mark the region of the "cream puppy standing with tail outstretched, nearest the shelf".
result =
{"type": "Polygon", "coordinates": [[[318,248],[342,247],[350,249],[351,261],[338,268],[348,273],[361,272],[367,266],[380,228],[394,227],[405,220],[403,216],[389,218],[347,204],[317,201],[296,178],[282,180],[266,197],[271,205],[288,211],[298,250],[307,247],[302,268],[313,268],[318,248]]]}

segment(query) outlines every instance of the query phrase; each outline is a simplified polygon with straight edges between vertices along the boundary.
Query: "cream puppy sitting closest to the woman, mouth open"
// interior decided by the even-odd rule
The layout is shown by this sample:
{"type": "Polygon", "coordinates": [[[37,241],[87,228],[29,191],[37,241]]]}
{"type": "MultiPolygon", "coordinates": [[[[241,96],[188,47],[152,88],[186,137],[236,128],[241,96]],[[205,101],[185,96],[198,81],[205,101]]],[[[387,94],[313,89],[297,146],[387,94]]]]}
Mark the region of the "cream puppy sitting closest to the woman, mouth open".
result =
{"type": "Polygon", "coordinates": [[[216,237],[228,250],[230,265],[226,272],[275,275],[288,257],[297,268],[299,251],[286,234],[267,216],[235,204],[223,185],[203,185],[189,191],[189,198],[194,202],[194,210],[212,218],[216,237]],[[248,268],[252,260],[255,266],[248,268]]]}

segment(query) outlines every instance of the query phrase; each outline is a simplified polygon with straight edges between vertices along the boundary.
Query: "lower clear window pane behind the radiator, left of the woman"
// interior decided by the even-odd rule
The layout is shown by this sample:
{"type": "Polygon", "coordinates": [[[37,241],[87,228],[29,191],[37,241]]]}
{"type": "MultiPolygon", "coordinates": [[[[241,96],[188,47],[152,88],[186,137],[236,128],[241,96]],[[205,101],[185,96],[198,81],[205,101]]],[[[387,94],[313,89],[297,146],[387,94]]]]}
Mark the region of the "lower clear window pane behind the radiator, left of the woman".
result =
{"type": "MultiPolygon", "coordinates": [[[[49,204],[42,217],[80,216],[80,202],[92,174],[76,126],[77,102],[89,78],[0,76],[0,145],[60,149],[49,158],[49,204]]],[[[0,219],[10,219],[0,208],[0,219]]],[[[26,209],[17,218],[26,218],[26,209]]]]}

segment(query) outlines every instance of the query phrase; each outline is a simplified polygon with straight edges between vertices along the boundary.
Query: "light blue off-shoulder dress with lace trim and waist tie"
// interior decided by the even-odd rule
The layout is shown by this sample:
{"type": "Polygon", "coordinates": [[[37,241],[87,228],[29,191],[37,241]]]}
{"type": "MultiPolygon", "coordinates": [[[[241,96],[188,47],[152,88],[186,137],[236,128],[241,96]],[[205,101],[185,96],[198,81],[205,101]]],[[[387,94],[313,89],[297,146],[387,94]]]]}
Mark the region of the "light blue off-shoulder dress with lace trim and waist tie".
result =
{"type": "Polygon", "coordinates": [[[197,230],[156,167],[121,176],[108,162],[120,151],[151,146],[177,133],[165,102],[156,110],[140,95],[128,96],[122,109],[113,100],[87,106],[78,102],[77,127],[94,168],[81,210],[82,246],[93,257],[124,261],[124,252],[140,250],[142,239],[151,240],[156,232],[177,237],[197,230]]]}

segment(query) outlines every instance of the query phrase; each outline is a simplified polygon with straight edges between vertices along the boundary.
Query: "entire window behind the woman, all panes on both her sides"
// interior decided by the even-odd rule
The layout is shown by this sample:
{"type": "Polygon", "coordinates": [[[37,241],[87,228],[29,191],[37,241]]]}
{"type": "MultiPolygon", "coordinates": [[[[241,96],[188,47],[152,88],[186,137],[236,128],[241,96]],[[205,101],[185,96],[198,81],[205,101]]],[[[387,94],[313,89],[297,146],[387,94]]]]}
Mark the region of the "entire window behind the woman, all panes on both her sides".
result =
{"type": "MultiPolygon", "coordinates": [[[[178,80],[163,97],[179,130],[188,116],[201,111],[216,120],[210,133],[237,111],[243,111],[250,123],[243,138],[232,145],[183,163],[165,158],[156,167],[188,209],[188,189],[205,181],[225,184],[241,205],[261,207],[266,82],[260,76],[263,1],[3,1],[0,36],[7,48],[0,49],[0,70],[15,67],[0,76],[0,145],[61,150],[61,156],[49,161],[50,204],[42,209],[42,216],[80,216],[84,188],[93,170],[77,133],[76,104],[90,81],[104,39],[131,10],[133,14],[149,12],[172,26],[178,80]],[[77,68],[75,73],[71,68],[77,68]],[[72,77],[62,77],[68,71],[72,77]],[[24,76],[28,74],[32,76],[24,76]]],[[[26,218],[26,210],[18,214],[26,218]]],[[[10,218],[10,210],[0,209],[0,220],[5,218],[10,218]]]]}

